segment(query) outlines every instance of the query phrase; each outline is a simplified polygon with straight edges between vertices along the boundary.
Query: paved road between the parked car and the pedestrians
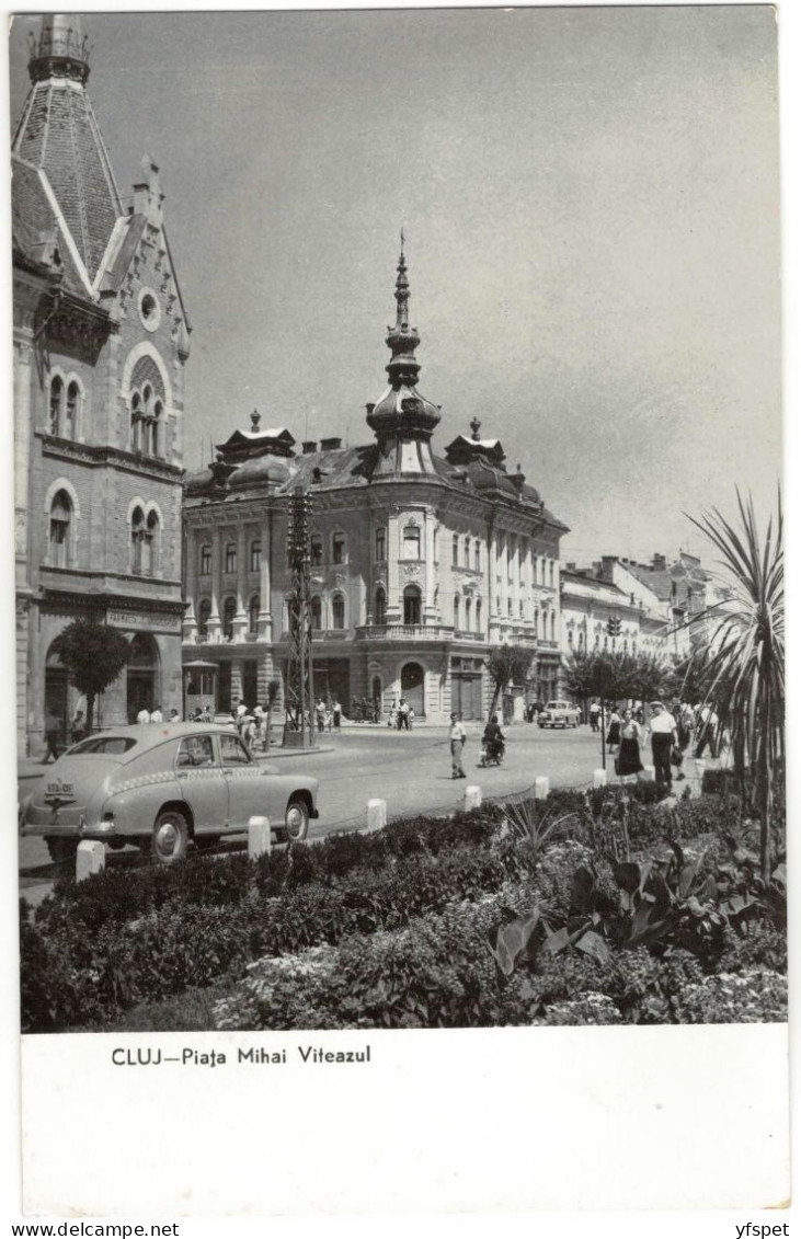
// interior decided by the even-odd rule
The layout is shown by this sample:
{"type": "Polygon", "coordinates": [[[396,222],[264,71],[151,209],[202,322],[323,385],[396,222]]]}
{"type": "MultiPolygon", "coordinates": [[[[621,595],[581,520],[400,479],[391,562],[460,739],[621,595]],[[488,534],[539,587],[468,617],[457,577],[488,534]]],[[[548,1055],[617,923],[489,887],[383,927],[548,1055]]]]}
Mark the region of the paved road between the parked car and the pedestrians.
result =
{"type": "MultiPolygon", "coordinates": [[[[466,779],[450,773],[450,747],[444,727],[418,727],[410,732],[388,727],[356,726],[341,735],[326,736],[327,751],[281,761],[281,772],[293,766],[320,779],[320,817],[311,824],[310,838],[334,830],[358,829],[366,824],[367,800],[381,797],[388,817],[408,813],[450,812],[464,797],[465,787],[479,784],[486,797],[522,792],[547,774],[552,787],[591,782],[600,766],[600,736],[588,727],[575,731],[541,731],[520,725],[506,729],[506,761],[501,767],[479,768],[481,726],[467,725],[464,753],[466,779]]],[[[611,763],[609,763],[611,773],[611,763]]],[[[26,784],[30,790],[31,783],[26,784]]],[[[232,844],[236,846],[236,844],[232,844]]],[[[109,867],[139,862],[139,852],[126,849],[108,852],[109,867]]],[[[58,867],[50,862],[41,839],[20,844],[20,888],[38,902],[50,888],[58,867]]]]}

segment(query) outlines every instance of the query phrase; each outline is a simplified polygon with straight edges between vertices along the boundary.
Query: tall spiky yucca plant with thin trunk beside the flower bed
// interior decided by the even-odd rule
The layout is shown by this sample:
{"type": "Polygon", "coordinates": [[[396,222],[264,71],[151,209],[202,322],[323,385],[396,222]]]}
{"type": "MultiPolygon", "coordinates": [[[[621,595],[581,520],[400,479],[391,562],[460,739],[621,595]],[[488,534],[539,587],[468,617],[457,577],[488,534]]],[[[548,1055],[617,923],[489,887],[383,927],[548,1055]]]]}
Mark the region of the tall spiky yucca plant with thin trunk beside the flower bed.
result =
{"type": "Polygon", "coordinates": [[[785,621],[781,492],[761,543],[749,496],[737,492],[741,528],[717,508],[689,517],[720,551],[729,597],[696,621],[714,620],[707,654],[708,691],[720,730],[732,740],[741,779],[751,776],[760,821],[760,870],[771,872],[771,812],[777,768],[784,758],[785,621]]]}

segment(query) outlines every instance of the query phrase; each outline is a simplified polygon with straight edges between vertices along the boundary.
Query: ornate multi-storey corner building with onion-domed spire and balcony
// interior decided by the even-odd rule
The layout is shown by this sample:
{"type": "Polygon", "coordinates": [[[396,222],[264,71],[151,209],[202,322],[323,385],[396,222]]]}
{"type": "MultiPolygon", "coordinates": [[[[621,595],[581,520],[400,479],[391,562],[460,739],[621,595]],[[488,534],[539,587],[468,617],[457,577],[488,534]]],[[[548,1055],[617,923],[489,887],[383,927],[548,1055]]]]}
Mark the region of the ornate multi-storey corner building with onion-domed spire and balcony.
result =
{"type": "MultiPolygon", "coordinates": [[[[382,715],[401,698],[418,719],[486,715],[492,646],[536,654],[529,691],[557,690],[559,539],[567,525],[508,473],[497,439],[458,435],[438,456],[441,410],[418,389],[403,252],[389,328],[389,384],[367,405],[373,439],[304,442],[252,425],[186,482],[184,663],[187,706],[264,701],[289,642],[289,506],[311,496],[315,696],[382,715]]],[[[522,701],[521,701],[522,710],[522,701]]]]}

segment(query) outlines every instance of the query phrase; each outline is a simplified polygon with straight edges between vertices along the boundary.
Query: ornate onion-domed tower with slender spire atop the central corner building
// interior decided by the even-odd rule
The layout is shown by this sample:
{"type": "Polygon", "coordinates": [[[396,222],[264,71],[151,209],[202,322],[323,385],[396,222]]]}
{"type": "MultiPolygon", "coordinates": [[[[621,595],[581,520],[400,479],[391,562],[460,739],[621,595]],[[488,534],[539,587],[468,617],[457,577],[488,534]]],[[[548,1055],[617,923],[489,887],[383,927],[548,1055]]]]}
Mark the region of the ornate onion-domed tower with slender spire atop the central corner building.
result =
{"type": "Polygon", "coordinates": [[[377,404],[367,405],[367,425],[374,431],[378,457],[372,477],[398,477],[436,473],[430,439],[440,420],[439,406],[417,389],[420,363],[414,349],[420,343],[417,327],[409,326],[409,281],[401,233],[401,258],[396,281],[398,312],[394,327],[388,327],[387,347],[392,359],[387,366],[389,387],[377,404]]]}

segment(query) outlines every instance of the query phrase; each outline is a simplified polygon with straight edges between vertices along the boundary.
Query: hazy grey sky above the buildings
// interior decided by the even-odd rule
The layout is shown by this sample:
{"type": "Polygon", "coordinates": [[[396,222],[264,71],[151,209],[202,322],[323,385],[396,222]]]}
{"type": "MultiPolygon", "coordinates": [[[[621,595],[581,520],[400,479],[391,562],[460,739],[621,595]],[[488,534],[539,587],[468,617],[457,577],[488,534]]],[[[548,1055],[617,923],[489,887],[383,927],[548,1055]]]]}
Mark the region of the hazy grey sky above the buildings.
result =
{"type": "MultiPolygon", "coordinates": [[[[11,30],[11,121],[27,32],[11,30]]],[[[123,196],[150,152],[192,323],[186,466],[368,442],[399,230],[435,451],[472,418],[563,558],[707,556],[781,471],[776,25],[760,6],[91,14],[123,196]]]]}

